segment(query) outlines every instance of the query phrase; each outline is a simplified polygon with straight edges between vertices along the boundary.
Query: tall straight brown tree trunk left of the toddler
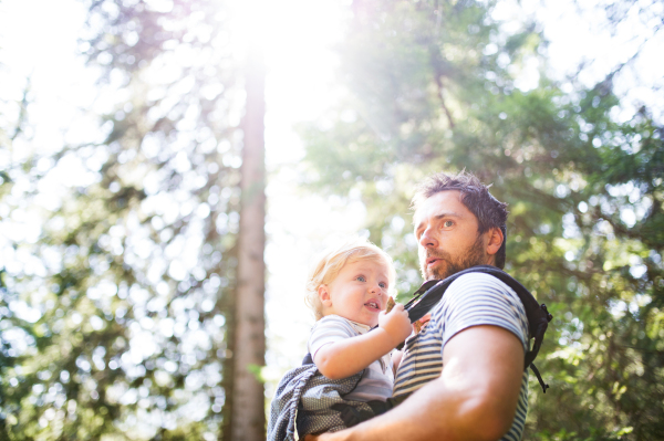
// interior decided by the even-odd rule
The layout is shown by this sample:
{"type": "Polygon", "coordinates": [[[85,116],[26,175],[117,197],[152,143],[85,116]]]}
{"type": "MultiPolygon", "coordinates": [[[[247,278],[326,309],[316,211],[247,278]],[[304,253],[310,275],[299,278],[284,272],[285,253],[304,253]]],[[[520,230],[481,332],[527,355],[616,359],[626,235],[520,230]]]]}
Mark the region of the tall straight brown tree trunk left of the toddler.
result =
{"type": "Polygon", "coordinates": [[[251,44],[247,63],[247,108],[241,168],[238,287],[231,437],[266,439],[264,392],[258,368],[264,365],[264,65],[262,48],[251,44]]]}

